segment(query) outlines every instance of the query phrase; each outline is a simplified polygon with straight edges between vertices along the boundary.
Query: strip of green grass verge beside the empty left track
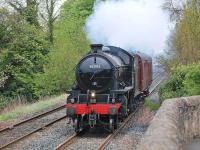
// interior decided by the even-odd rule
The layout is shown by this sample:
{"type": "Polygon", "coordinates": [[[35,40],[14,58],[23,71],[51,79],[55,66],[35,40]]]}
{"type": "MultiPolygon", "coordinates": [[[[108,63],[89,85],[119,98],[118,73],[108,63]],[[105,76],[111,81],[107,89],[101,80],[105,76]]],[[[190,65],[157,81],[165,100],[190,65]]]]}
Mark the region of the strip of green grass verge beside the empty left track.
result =
{"type": "Polygon", "coordinates": [[[41,111],[60,102],[65,102],[66,98],[67,95],[63,94],[57,97],[45,98],[33,104],[22,104],[21,106],[16,106],[13,110],[0,114],[0,121],[7,121],[9,119],[15,119],[20,116],[41,111]]]}

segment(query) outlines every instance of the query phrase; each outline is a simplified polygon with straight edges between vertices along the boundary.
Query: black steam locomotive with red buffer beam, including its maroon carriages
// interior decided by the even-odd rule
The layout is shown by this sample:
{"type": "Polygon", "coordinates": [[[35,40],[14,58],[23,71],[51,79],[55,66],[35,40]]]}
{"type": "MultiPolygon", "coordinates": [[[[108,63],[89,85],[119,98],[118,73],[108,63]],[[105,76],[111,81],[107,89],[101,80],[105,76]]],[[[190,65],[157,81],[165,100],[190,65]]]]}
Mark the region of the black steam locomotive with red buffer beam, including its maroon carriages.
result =
{"type": "Polygon", "coordinates": [[[76,85],[65,105],[75,132],[96,126],[112,132],[148,95],[151,83],[151,57],[114,46],[91,45],[91,52],[76,66],[76,85]]]}

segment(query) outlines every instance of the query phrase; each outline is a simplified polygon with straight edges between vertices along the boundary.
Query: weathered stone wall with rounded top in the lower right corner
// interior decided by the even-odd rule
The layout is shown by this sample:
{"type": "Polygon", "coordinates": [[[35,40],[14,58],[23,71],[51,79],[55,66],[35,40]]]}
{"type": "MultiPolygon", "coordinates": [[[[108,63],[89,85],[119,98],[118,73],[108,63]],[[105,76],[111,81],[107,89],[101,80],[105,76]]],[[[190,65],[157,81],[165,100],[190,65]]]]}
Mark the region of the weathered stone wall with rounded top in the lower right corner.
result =
{"type": "Polygon", "coordinates": [[[139,145],[139,150],[180,150],[200,136],[200,96],[164,101],[139,145]]]}

